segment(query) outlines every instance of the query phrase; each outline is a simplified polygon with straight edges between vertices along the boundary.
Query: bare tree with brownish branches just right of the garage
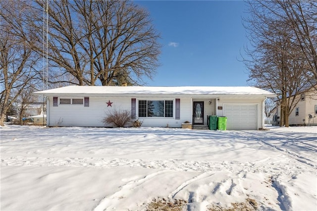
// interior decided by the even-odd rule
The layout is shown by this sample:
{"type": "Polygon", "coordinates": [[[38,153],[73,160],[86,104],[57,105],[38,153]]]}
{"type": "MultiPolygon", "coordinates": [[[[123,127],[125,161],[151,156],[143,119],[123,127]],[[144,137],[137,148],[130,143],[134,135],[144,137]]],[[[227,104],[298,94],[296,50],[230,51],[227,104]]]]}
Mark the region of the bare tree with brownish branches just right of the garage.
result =
{"type": "Polygon", "coordinates": [[[272,1],[250,1],[250,18],[244,19],[251,48],[250,59],[244,59],[249,69],[249,83],[278,95],[281,106],[281,126],[288,126],[303,88],[307,87],[308,62],[298,51],[290,21],[280,16],[283,10],[272,1]],[[293,96],[293,98],[289,98],[293,96]]]}

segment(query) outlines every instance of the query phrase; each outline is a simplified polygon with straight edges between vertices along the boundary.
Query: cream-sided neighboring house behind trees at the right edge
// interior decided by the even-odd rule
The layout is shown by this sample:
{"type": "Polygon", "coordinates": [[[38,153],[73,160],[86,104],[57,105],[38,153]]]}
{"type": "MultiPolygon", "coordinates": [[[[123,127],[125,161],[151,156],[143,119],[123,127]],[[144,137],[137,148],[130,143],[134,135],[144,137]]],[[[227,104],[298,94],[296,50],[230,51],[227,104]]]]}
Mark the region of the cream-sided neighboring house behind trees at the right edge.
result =
{"type": "MultiPolygon", "coordinates": [[[[292,100],[293,96],[290,97],[292,100]]],[[[317,125],[317,92],[313,88],[306,94],[298,95],[295,98],[298,104],[289,115],[289,126],[317,125]]],[[[280,124],[281,107],[276,106],[273,111],[273,125],[280,124]]]]}

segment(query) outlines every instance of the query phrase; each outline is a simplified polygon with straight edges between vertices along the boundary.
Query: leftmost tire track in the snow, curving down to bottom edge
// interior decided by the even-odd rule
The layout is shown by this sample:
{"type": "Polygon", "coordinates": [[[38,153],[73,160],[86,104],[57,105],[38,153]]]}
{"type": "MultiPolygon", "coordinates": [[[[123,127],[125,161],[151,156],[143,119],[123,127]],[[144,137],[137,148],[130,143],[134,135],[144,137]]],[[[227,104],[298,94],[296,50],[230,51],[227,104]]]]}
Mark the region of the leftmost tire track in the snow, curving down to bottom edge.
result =
{"type": "Polygon", "coordinates": [[[108,208],[113,210],[115,209],[115,206],[120,203],[120,199],[122,199],[122,196],[125,195],[127,192],[132,192],[133,189],[141,186],[143,183],[145,183],[146,181],[165,173],[168,170],[161,170],[161,171],[157,171],[155,173],[152,174],[148,174],[145,177],[143,177],[142,179],[139,179],[137,181],[132,180],[130,182],[128,182],[127,184],[121,186],[121,190],[115,192],[114,194],[110,195],[110,196],[106,196],[104,199],[102,199],[99,204],[97,205],[97,207],[94,209],[94,211],[105,211],[108,208]]]}

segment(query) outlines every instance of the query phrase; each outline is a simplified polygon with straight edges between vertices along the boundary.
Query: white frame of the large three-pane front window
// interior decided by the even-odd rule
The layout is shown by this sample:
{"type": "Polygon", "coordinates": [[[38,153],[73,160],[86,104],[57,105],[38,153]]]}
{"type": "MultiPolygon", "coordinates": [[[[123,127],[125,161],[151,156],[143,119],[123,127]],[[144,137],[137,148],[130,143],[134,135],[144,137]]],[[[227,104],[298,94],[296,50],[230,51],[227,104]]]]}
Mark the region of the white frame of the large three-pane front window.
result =
{"type": "Polygon", "coordinates": [[[144,99],[139,99],[138,100],[138,117],[142,118],[174,118],[174,109],[175,109],[175,102],[174,99],[155,99],[155,100],[144,100],[144,99]],[[163,111],[160,111],[163,116],[149,116],[149,102],[153,101],[162,101],[163,105],[163,111]],[[169,104],[168,104],[169,103],[169,104]],[[171,104],[170,104],[171,103],[171,104]],[[169,108],[167,108],[169,106],[169,108]]]}

